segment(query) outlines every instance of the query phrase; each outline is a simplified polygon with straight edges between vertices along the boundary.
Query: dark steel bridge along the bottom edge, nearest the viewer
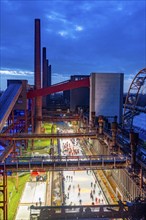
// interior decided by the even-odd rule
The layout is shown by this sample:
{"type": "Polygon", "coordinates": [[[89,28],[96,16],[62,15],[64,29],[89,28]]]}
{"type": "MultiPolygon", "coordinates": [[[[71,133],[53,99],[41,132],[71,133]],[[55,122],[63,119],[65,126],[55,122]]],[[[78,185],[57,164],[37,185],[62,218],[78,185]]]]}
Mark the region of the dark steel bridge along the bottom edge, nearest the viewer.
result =
{"type": "Polygon", "coordinates": [[[144,219],[146,202],[117,205],[83,206],[34,206],[30,207],[30,219],[144,219]]]}

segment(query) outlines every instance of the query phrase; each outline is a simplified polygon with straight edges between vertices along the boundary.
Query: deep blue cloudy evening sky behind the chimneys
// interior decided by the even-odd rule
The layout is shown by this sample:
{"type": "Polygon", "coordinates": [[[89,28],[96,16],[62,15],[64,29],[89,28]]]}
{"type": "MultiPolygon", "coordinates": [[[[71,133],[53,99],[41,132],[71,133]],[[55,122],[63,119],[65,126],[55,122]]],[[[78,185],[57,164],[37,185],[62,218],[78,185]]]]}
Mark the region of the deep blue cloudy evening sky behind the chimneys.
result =
{"type": "Polygon", "coordinates": [[[41,19],[52,82],[91,72],[124,73],[124,90],[146,67],[145,0],[0,0],[0,89],[34,83],[34,19],[41,19]]]}

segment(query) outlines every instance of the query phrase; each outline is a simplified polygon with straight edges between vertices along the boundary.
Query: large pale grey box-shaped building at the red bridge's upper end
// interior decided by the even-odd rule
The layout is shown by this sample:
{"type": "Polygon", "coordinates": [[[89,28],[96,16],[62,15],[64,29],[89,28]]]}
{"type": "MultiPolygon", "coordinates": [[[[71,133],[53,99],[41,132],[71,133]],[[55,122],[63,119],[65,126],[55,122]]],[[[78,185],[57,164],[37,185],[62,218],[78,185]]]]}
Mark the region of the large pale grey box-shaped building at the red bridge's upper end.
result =
{"type": "Polygon", "coordinates": [[[122,121],[123,73],[91,73],[90,75],[90,120],[95,116],[117,116],[122,121]]]}

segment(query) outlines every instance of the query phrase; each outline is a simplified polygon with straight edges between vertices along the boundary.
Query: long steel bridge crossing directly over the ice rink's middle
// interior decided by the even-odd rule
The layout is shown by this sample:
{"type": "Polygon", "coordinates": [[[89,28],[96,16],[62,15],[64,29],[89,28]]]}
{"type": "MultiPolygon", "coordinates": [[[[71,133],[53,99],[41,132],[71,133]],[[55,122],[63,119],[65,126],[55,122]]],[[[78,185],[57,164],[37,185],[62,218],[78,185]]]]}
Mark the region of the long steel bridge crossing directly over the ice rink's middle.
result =
{"type": "Polygon", "coordinates": [[[65,170],[98,170],[124,169],[128,166],[128,158],[120,156],[34,156],[7,158],[0,163],[0,170],[6,171],[65,171],[65,170]]]}

